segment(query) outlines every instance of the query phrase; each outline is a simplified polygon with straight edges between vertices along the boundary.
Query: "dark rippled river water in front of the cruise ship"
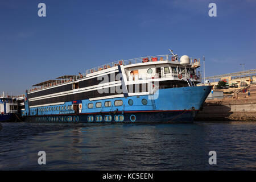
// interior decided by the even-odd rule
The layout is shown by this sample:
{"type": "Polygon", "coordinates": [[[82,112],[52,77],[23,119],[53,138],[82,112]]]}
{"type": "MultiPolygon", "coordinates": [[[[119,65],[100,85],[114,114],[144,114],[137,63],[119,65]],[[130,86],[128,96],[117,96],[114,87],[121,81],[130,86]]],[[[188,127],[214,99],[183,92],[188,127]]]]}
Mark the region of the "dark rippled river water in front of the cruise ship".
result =
{"type": "Polygon", "coordinates": [[[1,125],[0,170],[256,169],[256,122],[1,125]]]}

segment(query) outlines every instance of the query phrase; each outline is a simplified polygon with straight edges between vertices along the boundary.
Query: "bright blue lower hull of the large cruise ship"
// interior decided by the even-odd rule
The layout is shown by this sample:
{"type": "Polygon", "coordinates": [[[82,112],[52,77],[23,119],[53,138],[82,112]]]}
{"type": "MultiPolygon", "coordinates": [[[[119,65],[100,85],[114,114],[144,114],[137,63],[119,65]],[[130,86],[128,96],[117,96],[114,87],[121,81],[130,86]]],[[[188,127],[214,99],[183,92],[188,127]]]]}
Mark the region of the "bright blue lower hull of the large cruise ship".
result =
{"type": "MultiPolygon", "coordinates": [[[[211,86],[160,89],[159,97],[131,96],[108,100],[77,101],[82,104],[79,114],[69,111],[51,111],[25,117],[31,122],[193,122],[203,102],[210,93],[211,86]],[[147,100],[143,105],[142,100],[147,100]],[[88,109],[88,103],[122,100],[122,106],[88,109]],[[133,100],[133,105],[127,104],[133,100]]],[[[67,104],[69,104],[67,102],[67,104]]]]}

